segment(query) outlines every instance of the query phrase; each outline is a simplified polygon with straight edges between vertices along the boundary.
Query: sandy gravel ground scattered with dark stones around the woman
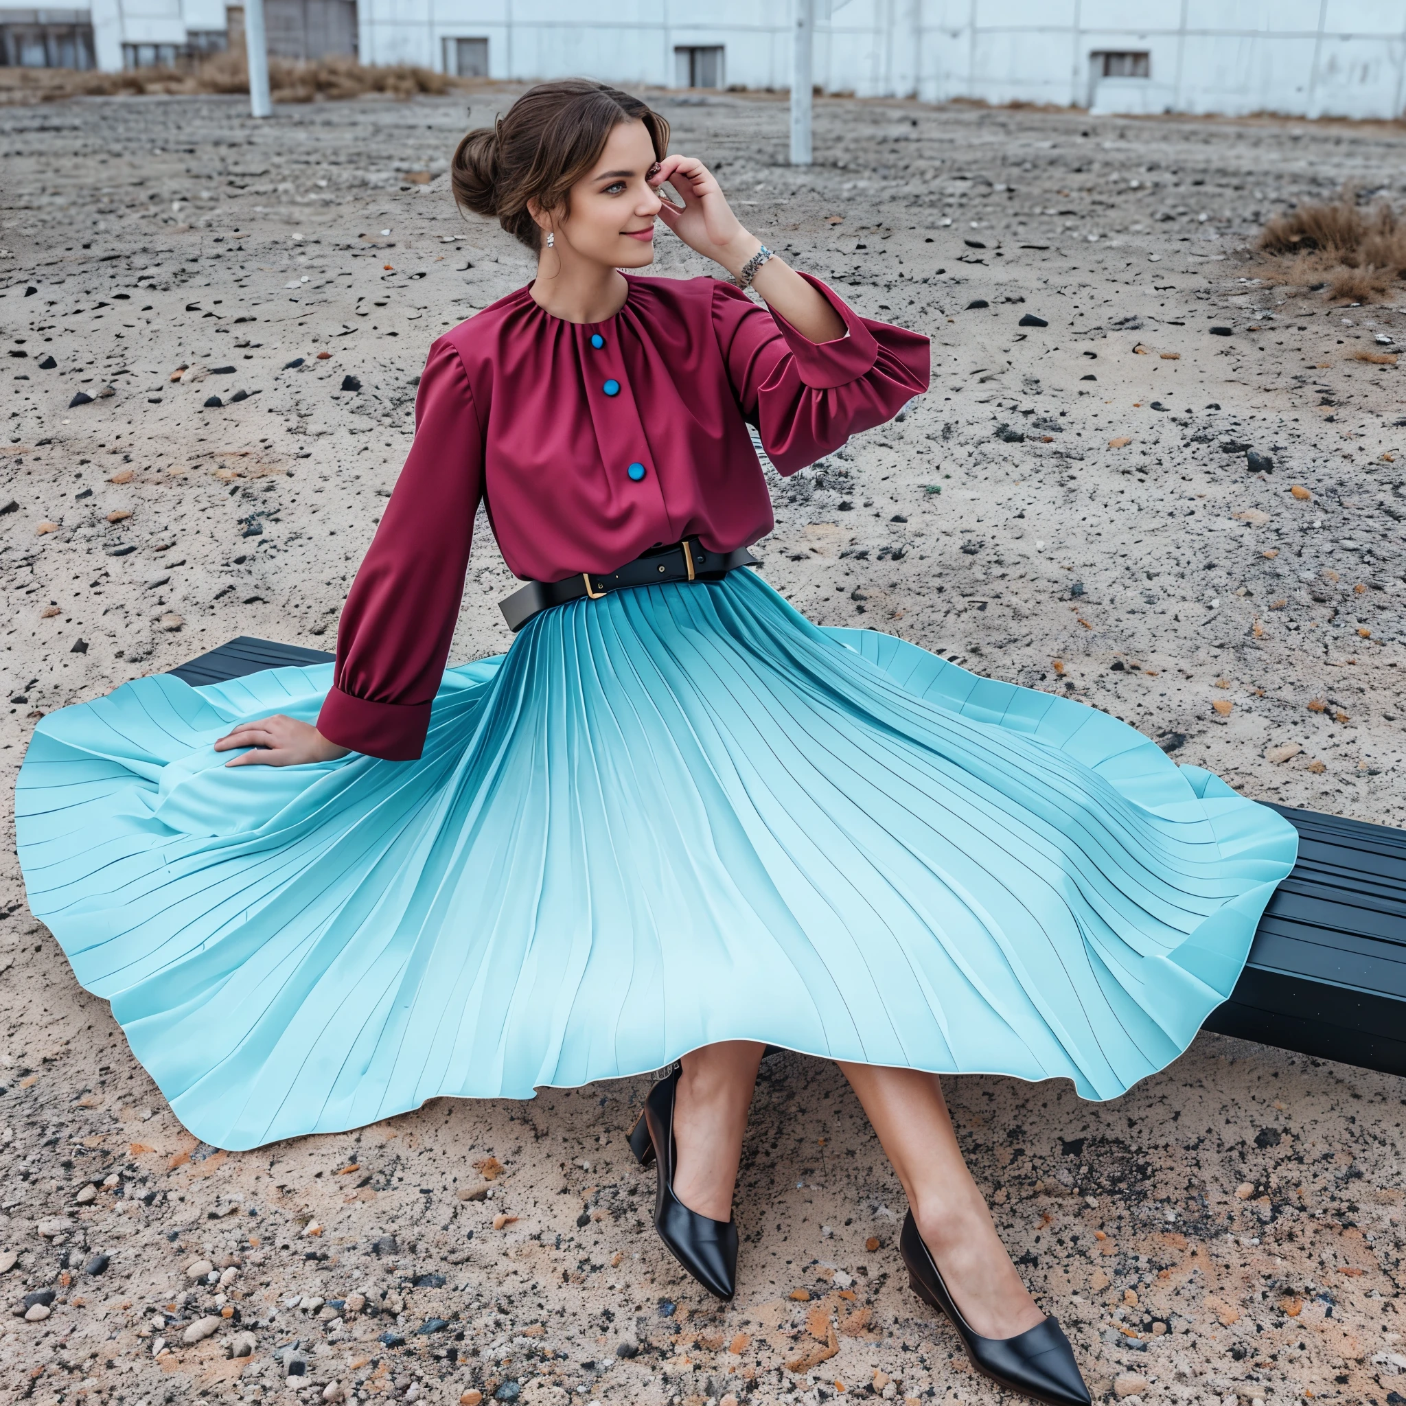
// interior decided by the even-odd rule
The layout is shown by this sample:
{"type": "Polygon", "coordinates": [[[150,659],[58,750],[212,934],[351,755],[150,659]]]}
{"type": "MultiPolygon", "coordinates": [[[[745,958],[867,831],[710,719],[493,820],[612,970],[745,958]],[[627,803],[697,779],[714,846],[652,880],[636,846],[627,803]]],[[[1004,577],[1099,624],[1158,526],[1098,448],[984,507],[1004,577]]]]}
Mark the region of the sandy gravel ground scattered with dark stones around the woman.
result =
{"type": "MultiPolygon", "coordinates": [[[[0,111],[7,792],[42,713],[238,634],[330,647],[429,342],[530,278],[443,174],[465,101],[509,97],[0,111]]],[[[1246,253],[1292,200],[1391,194],[1400,129],[835,100],[796,172],[783,103],[658,101],[758,233],[934,337],[901,422],[775,481],[768,579],[1247,794],[1406,824],[1406,412],[1361,360],[1406,321],[1246,253]]],[[[673,245],[659,271],[704,269],[673,245]]],[[[481,523],[453,659],[506,647],[508,589],[481,523]]],[[[0,1406],[995,1399],[907,1291],[901,1191],[832,1066],[763,1067],[720,1309],[648,1227],[641,1081],[198,1144],[4,825],[0,1406]]],[[[1111,1104],[948,1088],[1099,1398],[1402,1406],[1398,1080],[1202,1035],[1111,1104]]]]}

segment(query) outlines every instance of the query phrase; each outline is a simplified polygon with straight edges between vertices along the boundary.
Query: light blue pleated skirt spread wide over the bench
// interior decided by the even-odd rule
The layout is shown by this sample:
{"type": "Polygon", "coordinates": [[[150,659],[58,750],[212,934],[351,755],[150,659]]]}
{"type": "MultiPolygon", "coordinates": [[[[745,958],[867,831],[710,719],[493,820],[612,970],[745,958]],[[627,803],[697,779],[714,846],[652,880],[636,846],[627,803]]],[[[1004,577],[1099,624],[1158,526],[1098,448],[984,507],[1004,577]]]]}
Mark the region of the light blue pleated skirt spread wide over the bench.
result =
{"type": "Polygon", "coordinates": [[[425,755],[226,768],[332,666],[51,713],[35,915],[221,1147],[529,1098],[711,1040],[1112,1098],[1226,998],[1294,828],[1130,727],[762,579],[544,612],[425,755]]]}

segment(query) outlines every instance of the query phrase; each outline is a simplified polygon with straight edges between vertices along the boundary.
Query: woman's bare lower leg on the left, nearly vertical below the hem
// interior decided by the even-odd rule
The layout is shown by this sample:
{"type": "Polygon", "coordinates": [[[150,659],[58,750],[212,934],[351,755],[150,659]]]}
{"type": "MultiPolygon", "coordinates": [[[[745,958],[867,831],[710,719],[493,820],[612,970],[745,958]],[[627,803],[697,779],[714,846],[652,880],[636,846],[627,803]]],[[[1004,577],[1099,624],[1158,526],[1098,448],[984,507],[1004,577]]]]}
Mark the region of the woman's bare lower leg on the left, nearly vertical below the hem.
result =
{"type": "Polygon", "coordinates": [[[683,1056],[673,1104],[673,1194],[710,1220],[733,1219],[733,1188],[763,1049],[755,1040],[723,1040],[683,1056]]]}

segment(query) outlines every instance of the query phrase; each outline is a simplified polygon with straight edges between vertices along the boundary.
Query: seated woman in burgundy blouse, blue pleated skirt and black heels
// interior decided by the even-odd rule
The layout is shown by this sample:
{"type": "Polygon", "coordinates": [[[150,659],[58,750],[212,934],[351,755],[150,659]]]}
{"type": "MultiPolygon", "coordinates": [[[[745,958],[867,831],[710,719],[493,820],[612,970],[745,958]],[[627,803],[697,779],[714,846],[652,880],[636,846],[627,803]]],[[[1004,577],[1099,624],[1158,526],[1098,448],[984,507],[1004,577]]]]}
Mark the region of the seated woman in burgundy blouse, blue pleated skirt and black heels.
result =
{"type": "Polygon", "coordinates": [[[995,1381],[1087,1402],[934,1071],[1111,1098],[1160,1069],[1230,991],[1294,831],[1104,714],[818,628],[745,569],[772,526],[748,425],[793,472],[921,394],[928,346],[765,249],[666,142],[586,82],[461,142],[456,195],[537,277],[430,349],[335,669],[45,718],[31,904],[224,1146],[678,1060],[630,1140],[723,1299],[763,1042],[837,1059],[908,1197],[915,1292],[995,1381]],[[734,281],[620,273],[657,222],[734,281]],[[481,498],[529,585],[512,648],[446,672],[481,498]]]}

